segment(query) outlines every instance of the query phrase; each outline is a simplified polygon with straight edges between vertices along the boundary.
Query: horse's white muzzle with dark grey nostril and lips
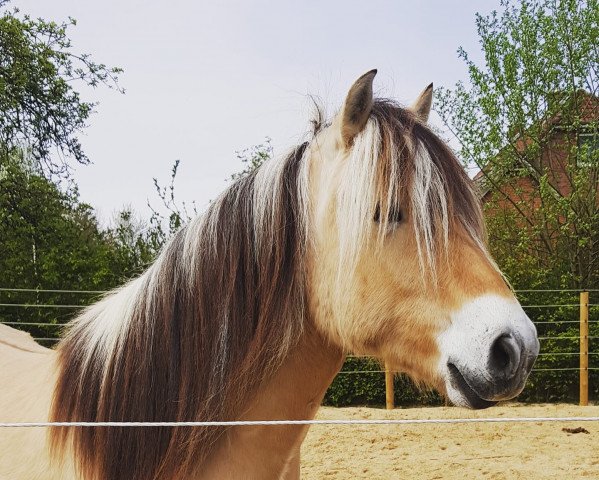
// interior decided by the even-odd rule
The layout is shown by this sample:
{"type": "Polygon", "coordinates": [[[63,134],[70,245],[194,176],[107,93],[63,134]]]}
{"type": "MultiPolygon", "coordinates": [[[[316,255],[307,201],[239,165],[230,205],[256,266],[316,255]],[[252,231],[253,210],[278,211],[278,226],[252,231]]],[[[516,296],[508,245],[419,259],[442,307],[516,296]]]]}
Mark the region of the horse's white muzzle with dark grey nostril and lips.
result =
{"type": "Polygon", "coordinates": [[[517,396],[539,354],[536,329],[522,307],[492,295],[463,306],[437,340],[447,396],[469,408],[517,396]]]}

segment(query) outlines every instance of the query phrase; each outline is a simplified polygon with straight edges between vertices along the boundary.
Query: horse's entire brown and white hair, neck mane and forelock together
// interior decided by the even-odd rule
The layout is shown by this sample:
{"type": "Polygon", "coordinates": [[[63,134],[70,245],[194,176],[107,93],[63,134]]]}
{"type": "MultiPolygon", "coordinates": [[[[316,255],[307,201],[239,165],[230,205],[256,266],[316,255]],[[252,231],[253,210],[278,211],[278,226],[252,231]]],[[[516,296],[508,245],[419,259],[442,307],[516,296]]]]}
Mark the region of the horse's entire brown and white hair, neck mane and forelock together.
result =
{"type": "MultiPolygon", "coordinates": [[[[324,126],[319,117],[315,138],[324,126]]],[[[86,309],[58,346],[50,418],[73,421],[238,419],[307,322],[309,144],[232,184],[181,229],[139,278],[86,309]]],[[[481,245],[471,181],[449,148],[408,110],[377,99],[349,153],[337,194],[340,271],[357,258],[372,221],[411,198],[422,268],[460,222],[481,245]],[[408,195],[409,194],[409,195],[408,195]]],[[[482,247],[481,247],[482,248],[482,247]]],[[[224,428],[64,428],[95,480],[185,478],[224,428]]]]}

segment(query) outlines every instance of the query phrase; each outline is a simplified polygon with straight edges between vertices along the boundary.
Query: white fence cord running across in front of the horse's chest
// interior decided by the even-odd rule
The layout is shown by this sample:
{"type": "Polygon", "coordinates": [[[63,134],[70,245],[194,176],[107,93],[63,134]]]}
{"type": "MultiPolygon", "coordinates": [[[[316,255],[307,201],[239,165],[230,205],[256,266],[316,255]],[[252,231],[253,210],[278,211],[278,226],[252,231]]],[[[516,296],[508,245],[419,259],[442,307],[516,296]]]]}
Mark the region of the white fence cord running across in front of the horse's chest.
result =
{"type": "Polygon", "coordinates": [[[488,417],[330,420],[230,420],[210,422],[0,422],[0,428],[32,427],[251,427],[284,425],[423,425],[456,423],[597,422],[599,417],[488,417]]]}

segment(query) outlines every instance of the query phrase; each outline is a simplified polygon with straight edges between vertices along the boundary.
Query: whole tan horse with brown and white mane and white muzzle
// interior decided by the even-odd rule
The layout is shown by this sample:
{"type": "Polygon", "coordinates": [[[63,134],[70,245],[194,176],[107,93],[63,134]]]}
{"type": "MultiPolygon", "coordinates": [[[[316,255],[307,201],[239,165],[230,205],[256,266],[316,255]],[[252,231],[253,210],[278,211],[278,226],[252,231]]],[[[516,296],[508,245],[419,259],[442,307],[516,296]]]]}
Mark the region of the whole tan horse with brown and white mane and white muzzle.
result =
{"type": "MultiPolygon", "coordinates": [[[[489,254],[480,199],[376,70],[309,140],[178,231],[53,350],[0,330],[10,422],[305,420],[348,353],[486,408],[518,395],[535,327],[489,254]]],[[[306,425],[5,428],[0,477],[297,479],[306,425]]]]}

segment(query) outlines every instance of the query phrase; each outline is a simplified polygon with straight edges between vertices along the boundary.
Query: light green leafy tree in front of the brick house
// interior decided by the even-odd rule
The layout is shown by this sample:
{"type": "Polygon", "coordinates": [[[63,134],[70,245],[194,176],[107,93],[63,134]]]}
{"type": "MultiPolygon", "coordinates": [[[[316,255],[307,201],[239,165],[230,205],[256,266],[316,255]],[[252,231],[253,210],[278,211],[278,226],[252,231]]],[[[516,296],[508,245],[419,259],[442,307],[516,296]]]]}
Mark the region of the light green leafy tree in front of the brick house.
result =
{"type": "Polygon", "coordinates": [[[512,282],[599,285],[599,4],[503,0],[477,14],[484,54],[437,111],[481,170],[490,244],[512,282]]]}

